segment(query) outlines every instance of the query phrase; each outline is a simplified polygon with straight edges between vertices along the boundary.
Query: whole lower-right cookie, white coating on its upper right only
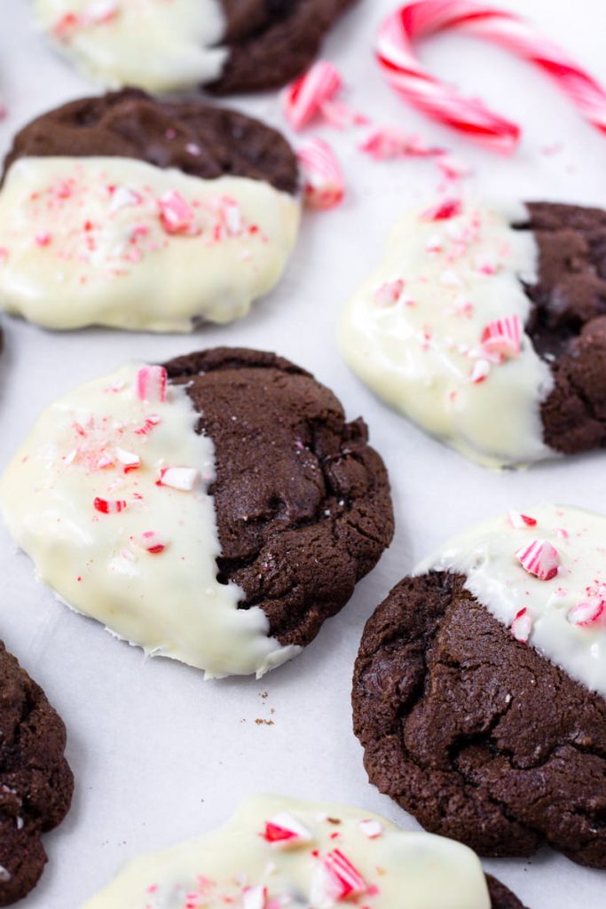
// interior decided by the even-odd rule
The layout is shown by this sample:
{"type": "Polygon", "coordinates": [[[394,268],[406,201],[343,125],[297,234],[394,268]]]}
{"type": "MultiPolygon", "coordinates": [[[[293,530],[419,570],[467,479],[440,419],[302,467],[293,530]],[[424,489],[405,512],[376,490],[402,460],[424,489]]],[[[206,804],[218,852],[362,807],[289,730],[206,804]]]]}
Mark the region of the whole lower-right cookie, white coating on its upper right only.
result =
{"type": "Polygon", "coordinates": [[[606,867],[605,531],[601,515],[553,506],[487,522],[366,625],[364,764],[428,830],[484,855],[550,844],[606,867]]]}

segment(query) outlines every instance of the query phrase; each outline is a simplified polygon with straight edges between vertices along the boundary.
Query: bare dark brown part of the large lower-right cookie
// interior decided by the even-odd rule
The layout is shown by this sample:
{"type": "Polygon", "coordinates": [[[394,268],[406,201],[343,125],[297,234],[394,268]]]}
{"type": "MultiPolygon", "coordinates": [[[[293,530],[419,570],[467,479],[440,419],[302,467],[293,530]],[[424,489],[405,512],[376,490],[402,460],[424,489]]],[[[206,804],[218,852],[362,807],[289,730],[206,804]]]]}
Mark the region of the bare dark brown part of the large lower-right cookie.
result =
{"type": "Polygon", "coordinates": [[[397,584],[366,624],[354,731],[369,778],[483,855],[606,868],[606,702],[516,641],[460,574],[397,584]]]}

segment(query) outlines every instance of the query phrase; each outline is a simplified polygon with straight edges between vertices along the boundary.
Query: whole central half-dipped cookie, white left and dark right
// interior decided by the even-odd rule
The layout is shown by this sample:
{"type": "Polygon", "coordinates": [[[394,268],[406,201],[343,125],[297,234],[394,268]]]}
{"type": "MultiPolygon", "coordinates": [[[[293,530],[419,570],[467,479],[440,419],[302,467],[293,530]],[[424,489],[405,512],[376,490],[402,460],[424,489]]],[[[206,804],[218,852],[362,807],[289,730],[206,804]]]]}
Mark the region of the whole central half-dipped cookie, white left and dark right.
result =
{"type": "Polygon", "coordinates": [[[363,421],[298,366],[235,348],[125,365],[65,395],[0,504],[66,604],[209,676],[297,654],[393,531],[363,421]]]}

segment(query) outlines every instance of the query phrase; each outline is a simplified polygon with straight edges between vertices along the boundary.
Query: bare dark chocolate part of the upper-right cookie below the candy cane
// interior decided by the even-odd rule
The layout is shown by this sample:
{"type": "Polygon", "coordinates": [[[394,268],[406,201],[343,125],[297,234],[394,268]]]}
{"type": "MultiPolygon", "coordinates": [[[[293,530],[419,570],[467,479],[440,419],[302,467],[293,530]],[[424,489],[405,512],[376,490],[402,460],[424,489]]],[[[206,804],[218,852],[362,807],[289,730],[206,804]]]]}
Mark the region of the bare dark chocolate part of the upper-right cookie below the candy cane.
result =
{"type": "Polygon", "coordinates": [[[606,446],[606,212],[527,205],[540,252],[528,335],[551,367],[541,406],[547,445],[563,454],[606,446]]]}

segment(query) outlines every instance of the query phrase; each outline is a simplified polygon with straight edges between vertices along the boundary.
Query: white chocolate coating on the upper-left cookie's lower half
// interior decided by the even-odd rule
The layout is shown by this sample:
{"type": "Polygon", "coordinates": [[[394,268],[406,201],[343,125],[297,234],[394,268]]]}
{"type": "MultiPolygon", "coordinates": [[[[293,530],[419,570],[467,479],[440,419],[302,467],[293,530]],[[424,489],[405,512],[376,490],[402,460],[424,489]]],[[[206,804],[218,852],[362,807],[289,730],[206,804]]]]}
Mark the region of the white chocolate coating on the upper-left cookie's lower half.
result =
{"type": "Polygon", "coordinates": [[[292,195],[246,177],[21,158],[0,192],[0,303],[57,329],[231,322],[282,276],[299,219],[292,195]]]}

